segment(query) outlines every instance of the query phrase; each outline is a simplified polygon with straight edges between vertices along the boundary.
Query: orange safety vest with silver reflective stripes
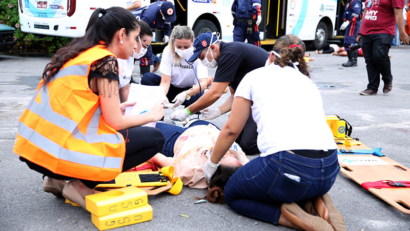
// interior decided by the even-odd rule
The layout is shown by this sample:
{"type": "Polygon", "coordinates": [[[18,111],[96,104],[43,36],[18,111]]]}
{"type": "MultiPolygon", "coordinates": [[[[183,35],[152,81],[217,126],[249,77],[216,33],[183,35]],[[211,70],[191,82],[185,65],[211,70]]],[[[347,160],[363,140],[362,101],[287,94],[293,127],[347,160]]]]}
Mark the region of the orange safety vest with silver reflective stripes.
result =
{"type": "Polygon", "coordinates": [[[88,85],[91,64],[112,55],[103,45],[69,60],[37,86],[18,120],[13,151],[55,174],[110,181],[122,171],[124,137],[101,116],[98,95],[88,85]]]}

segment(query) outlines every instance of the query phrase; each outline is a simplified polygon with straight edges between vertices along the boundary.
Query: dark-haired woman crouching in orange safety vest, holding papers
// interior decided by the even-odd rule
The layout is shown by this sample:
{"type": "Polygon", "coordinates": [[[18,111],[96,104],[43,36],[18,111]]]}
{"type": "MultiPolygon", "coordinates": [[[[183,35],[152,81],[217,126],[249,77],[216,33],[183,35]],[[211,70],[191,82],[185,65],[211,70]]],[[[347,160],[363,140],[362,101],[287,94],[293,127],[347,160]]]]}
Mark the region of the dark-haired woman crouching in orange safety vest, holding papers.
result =
{"type": "Polygon", "coordinates": [[[119,104],[117,57],[133,54],[139,30],[125,9],[96,9],[86,34],[47,64],[19,119],[14,152],[45,176],[45,191],[83,208],[96,185],[149,160],[164,143],[159,129],[140,126],[163,117],[163,102],[133,116],[124,111],[135,102],[119,104]]]}

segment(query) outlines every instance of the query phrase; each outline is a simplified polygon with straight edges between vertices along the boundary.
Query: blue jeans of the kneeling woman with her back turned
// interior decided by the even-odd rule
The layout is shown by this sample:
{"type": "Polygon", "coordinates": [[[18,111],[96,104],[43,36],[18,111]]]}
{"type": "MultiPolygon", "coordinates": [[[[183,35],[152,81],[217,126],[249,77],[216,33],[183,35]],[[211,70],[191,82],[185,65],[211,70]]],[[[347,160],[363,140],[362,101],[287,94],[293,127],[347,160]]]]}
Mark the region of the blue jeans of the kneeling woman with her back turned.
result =
{"type": "Polygon", "coordinates": [[[282,203],[324,195],[338,172],[336,150],[322,159],[280,151],[257,157],[239,168],[225,186],[225,201],[239,214],[276,225],[282,203]],[[300,182],[284,174],[298,176],[300,182]]]}

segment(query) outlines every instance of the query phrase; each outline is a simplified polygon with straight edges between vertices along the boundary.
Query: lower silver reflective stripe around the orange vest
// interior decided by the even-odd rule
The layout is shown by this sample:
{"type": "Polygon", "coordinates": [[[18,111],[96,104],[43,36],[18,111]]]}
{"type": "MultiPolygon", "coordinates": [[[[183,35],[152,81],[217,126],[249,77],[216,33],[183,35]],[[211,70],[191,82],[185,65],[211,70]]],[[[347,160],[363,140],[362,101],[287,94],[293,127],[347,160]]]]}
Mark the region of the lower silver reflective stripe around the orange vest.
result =
{"type": "Polygon", "coordinates": [[[47,139],[35,130],[27,127],[23,122],[18,122],[18,133],[20,136],[31,141],[39,148],[49,152],[60,160],[70,161],[76,164],[88,165],[100,168],[120,168],[122,158],[120,157],[101,157],[88,153],[71,151],[63,148],[53,141],[47,139]]]}

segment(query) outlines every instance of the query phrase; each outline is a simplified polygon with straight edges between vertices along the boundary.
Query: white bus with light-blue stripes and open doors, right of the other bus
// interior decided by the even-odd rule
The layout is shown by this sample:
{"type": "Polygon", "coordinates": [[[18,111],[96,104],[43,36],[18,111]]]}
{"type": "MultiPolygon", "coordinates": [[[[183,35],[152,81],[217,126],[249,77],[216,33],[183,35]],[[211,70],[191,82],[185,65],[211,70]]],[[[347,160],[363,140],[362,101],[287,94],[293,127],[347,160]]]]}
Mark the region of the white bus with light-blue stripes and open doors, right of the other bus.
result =
{"type": "MultiPolygon", "coordinates": [[[[175,0],[177,21],[193,28],[195,34],[219,31],[233,41],[234,0],[175,0]]],[[[274,44],[275,38],[295,34],[314,47],[327,39],[343,38],[339,31],[347,0],[262,0],[261,44],[274,44]]]]}

